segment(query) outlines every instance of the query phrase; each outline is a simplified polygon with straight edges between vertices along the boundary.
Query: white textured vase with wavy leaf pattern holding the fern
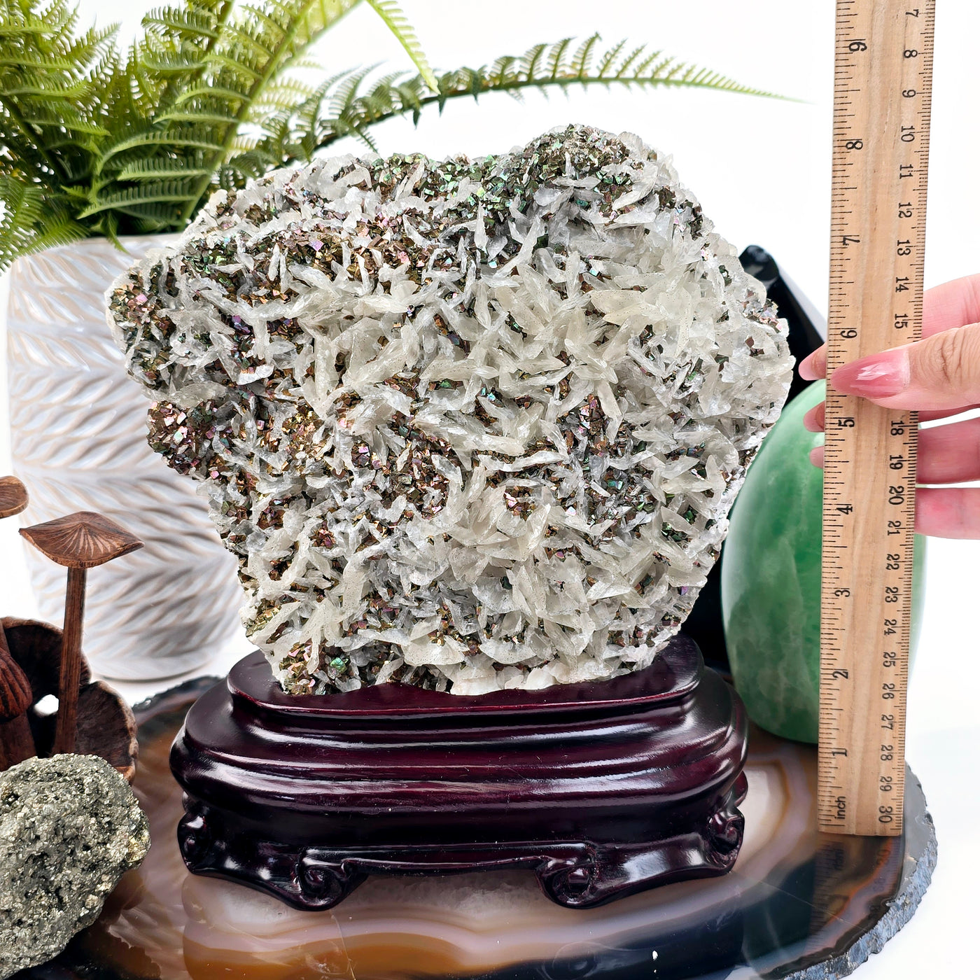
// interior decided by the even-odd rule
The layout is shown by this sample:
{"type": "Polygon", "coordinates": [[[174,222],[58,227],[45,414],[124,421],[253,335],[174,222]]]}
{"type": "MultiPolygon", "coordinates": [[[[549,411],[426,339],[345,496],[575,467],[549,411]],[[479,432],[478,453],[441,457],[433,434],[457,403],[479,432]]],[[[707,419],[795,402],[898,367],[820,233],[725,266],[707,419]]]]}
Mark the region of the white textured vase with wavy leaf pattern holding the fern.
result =
{"type": "MultiPolygon", "coordinates": [[[[147,445],[149,402],[106,324],[112,281],[165,242],[125,238],[123,253],[90,239],[22,259],[11,273],[11,448],[30,494],[22,523],[98,511],[146,546],[88,577],[85,654],[121,680],[191,670],[241,635],[235,560],[194,484],[147,445]]],[[[41,615],[60,624],[65,569],[26,551],[41,615]]]]}

